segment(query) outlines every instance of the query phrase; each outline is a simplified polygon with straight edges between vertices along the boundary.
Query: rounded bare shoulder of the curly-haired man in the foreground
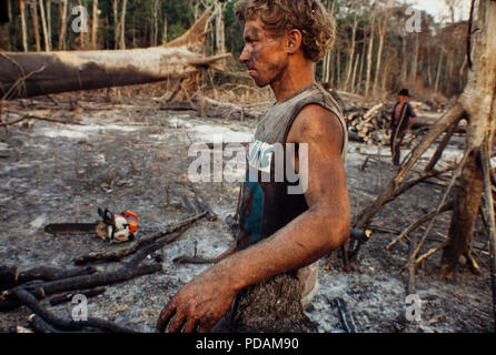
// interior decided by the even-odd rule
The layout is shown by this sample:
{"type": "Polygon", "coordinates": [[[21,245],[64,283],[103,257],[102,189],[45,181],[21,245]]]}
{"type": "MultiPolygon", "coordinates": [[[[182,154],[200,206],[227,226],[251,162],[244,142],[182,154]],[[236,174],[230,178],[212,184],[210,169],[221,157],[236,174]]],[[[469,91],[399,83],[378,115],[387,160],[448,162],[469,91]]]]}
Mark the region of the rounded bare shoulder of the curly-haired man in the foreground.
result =
{"type": "Polygon", "coordinates": [[[289,130],[287,141],[288,143],[321,141],[323,144],[329,143],[340,151],[343,133],[343,126],[336,113],[313,103],[298,113],[289,130]]]}

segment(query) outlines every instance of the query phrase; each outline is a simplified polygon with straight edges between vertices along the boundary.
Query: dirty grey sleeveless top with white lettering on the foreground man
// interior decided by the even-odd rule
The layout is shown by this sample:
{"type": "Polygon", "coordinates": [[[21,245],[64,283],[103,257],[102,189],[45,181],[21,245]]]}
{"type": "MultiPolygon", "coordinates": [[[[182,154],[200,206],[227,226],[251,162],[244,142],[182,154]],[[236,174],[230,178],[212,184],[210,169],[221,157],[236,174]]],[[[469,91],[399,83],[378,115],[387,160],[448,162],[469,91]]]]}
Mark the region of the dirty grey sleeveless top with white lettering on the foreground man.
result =
{"type": "MultiPolygon", "coordinates": [[[[346,163],[348,133],[344,114],[336,100],[319,84],[309,87],[275,103],[259,122],[250,144],[246,182],[239,210],[240,232],[237,248],[246,248],[266,239],[308,210],[304,190],[295,193],[300,181],[288,174],[286,160],[299,146],[286,144],[298,113],[308,104],[334,112],[343,128],[343,163],[346,163]],[[292,148],[291,148],[292,145],[292,148]],[[294,192],[289,193],[290,189],[294,192]]],[[[311,154],[311,152],[309,152],[311,154]]]]}

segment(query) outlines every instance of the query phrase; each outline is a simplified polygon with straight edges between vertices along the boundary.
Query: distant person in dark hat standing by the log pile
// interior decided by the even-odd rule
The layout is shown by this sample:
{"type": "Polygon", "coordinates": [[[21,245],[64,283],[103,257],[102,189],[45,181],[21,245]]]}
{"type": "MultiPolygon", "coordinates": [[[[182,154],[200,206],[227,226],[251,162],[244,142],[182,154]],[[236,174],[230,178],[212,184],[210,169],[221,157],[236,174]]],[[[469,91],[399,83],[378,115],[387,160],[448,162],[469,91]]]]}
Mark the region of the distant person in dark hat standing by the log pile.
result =
{"type": "Polygon", "coordinates": [[[395,104],[388,130],[391,130],[391,158],[395,166],[399,165],[401,152],[400,146],[406,132],[417,122],[417,115],[408,102],[410,94],[408,89],[403,89],[398,94],[398,102],[395,104]]]}

